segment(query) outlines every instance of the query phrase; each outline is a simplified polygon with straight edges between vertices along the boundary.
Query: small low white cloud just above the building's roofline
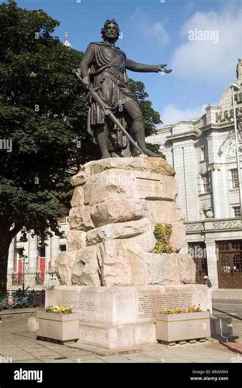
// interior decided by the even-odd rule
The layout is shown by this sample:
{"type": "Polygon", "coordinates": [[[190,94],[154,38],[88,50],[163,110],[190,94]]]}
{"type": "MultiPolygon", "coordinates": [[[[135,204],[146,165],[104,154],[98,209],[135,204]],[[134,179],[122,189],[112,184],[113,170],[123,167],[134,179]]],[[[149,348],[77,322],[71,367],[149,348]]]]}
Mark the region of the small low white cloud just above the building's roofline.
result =
{"type": "Polygon", "coordinates": [[[200,118],[204,115],[203,107],[179,109],[175,104],[165,105],[161,111],[161,119],[165,125],[176,124],[179,121],[188,121],[192,118],[200,118]]]}

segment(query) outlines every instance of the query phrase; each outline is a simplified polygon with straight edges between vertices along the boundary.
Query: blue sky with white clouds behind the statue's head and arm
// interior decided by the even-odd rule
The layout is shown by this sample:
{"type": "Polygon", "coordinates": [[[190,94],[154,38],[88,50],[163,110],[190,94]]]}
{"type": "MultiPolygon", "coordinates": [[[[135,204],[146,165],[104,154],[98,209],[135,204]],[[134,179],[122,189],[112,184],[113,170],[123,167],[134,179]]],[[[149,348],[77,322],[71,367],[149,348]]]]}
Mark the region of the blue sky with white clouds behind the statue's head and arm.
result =
{"type": "MultiPolygon", "coordinates": [[[[17,0],[16,0],[17,1],[17,0]]],[[[204,105],[218,105],[220,96],[236,79],[241,50],[240,0],[18,0],[26,9],[43,9],[60,21],[74,48],[85,51],[101,41],[100,30],[114,18],[123,33],[116,43],[137,62],[167,63],[172,74],[137,73],[164,125],[203,115],[204,105]],[[189,31],[212,30],[213,40],[189,40],[189,31]]]]}

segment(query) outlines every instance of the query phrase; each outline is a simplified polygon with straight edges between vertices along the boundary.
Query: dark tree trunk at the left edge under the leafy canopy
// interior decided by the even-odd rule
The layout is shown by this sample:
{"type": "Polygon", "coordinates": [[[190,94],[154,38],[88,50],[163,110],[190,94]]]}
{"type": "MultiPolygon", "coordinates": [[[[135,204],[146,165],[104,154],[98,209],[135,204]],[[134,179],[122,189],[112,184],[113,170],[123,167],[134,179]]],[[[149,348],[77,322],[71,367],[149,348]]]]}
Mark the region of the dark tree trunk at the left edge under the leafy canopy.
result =
{"type": "Polygon", "coordinates": [[[0,230],[0,297],[7,293],[8,253],[11,237],[8,230],[0,230]]]}

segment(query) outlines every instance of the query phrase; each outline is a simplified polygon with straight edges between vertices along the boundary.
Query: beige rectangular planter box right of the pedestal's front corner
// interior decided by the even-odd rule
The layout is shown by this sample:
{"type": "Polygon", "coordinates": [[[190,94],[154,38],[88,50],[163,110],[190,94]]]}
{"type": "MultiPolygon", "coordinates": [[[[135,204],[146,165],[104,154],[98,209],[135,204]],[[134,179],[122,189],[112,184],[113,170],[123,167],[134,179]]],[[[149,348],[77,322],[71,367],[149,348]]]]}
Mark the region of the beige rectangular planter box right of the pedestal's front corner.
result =
{"type": "Polygon", "coordinates": [[[210,312],[156,314],[156,340],[165,344],[210,337],[210,312]]]}

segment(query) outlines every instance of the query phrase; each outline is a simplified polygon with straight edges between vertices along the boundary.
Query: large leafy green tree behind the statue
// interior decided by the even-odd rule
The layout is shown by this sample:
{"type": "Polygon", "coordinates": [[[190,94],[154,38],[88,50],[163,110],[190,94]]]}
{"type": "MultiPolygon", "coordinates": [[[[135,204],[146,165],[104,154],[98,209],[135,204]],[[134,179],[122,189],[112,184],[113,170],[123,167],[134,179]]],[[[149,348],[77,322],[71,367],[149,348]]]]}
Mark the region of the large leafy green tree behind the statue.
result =
{"type": "MultiPolygon", "coordinates": [[[[6,292],[12,238],[33,230],[41,245],[61,235],[68,213],[70,176],[100,159],[86,132],[85,96],[71,72],[83,53],[65,47],[53,32],[59,22],[43,10],[28,11],[13,0],[0,5],[0,295],[6,292]]],[[[144,84],[130,80],[146,133],[160,117],[144,84]]],[[[154,147],[154,146],[152,146],[154,147]]]]}

